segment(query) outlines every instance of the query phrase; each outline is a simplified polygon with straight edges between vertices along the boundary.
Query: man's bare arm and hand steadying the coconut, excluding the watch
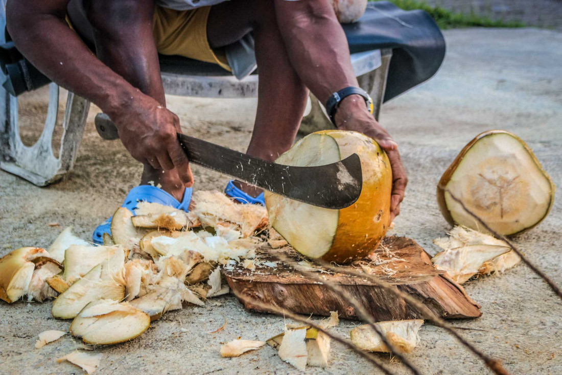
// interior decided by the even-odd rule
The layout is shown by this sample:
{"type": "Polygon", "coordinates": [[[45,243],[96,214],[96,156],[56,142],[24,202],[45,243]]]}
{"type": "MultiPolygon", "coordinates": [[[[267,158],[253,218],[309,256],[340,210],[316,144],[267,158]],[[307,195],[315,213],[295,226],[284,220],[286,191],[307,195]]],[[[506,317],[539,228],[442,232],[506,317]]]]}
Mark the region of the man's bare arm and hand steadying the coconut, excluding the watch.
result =
{"type": "MultiPolygon", "coordinates": [[[[302,82],[325,103],[336,91],[358,87],[347,39],[330,0],[275,0],[279,29],[289,58],[302,82]]],[[[392,164],[391,218],[400,213],[407,177],[397,144],[366,110],[362,97],[345,98],[336,112],[339,129],[355,130],[375,139],[392,164]]]]}

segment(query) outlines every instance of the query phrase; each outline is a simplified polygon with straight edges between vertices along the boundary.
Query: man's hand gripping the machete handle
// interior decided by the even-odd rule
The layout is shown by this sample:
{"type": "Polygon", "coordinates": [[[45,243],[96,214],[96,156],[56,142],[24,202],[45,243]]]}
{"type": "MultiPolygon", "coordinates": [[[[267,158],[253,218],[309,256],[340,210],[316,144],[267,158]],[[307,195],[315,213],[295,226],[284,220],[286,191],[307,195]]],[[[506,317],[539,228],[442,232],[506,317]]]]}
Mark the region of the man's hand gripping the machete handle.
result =
{"type": "Polygon", "coordinates": [[[182,133],[178,116],[140,92],[119,111],[108,115],[117,126],[121,142],[136,160],[157,170],[176,168],[184,186],[193,185],[189,161],[176,134],[182,133]]]}

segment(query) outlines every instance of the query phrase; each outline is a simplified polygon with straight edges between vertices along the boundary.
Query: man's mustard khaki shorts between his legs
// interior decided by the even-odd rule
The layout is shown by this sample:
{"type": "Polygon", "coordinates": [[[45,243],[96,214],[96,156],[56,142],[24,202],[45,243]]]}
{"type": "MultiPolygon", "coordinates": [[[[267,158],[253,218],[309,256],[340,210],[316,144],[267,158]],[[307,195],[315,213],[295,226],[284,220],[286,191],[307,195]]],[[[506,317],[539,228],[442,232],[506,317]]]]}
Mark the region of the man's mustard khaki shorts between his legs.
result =
{"type": "Polygon", "coordinates": [[[210,10],[211,7],[201,7],[176,11],[156,6],[152,30],[158,53],[212,62],[232,71],[223,49],[209,46],[207,18],[210,10]]]}

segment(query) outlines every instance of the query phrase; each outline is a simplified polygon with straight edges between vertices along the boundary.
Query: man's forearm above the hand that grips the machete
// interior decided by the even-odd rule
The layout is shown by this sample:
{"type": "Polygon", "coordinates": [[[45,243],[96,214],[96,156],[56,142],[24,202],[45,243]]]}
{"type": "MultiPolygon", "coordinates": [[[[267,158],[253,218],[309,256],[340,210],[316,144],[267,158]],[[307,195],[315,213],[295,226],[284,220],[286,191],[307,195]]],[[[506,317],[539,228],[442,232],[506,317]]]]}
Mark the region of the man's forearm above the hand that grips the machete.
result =
{"type": "Polygon", "coordinates": [[[112,114],[139,91],[98,60],[65,22],[66,0],[9,1],[7,26],[19,51],[53,82],[112,114]]]}

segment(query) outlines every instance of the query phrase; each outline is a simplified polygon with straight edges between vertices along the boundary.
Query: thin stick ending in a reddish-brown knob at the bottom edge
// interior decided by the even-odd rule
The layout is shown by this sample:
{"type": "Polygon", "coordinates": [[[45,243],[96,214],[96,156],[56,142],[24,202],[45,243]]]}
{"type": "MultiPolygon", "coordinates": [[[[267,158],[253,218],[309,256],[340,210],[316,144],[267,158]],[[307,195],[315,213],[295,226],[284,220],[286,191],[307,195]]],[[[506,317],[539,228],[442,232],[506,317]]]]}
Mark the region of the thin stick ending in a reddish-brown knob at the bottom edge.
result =
{"type": "MultiPolygon", "coordinates": [[[[324,268],[332,270],[333,272],[339,272],[336,266],[333,266],[325,261],[315,260],[315,263],[320,266],[323,266],[324,268]]],[[[451,335],[453,335],[461,344],[463,344],[466,347],[466,349],[472,351],[472,353],[478,356],[478,358],[482,359],[482,361],[486,363],[487,367],[490,368],[494,373],[496,373],[497,375],[509,375],[509,373],[502,367],[502,365],[498,360],[492,359],[488,355],[482,353],[482,351],[478,350],[477,347],[470,344],[470,342],[466,341],[465,338],[461,336],[459,332],[455,331],[455,328],[453,328],[449,323],[445,322],[444,319],[439,317],[436,313],[434,313],[427,306],[422,304],[422,302],[416,300],[414,297],[402,292],[397,287],[385,281],[382,281],[378,277],[375,277],[368,273],[360,273],[349,269],[346,269],[345,273],[356,277],[368,278],[373,284],[377,285],[383,290],[391,292],[395,296],[401,297],[406,302],[413,305],[417,310],[419,310],[425,319],[429,320],[430,322],[433,322],[434,324],[436,324],[436,326],[441,327],[445,329],[445,331],[451,333],[451,335]]]]}

